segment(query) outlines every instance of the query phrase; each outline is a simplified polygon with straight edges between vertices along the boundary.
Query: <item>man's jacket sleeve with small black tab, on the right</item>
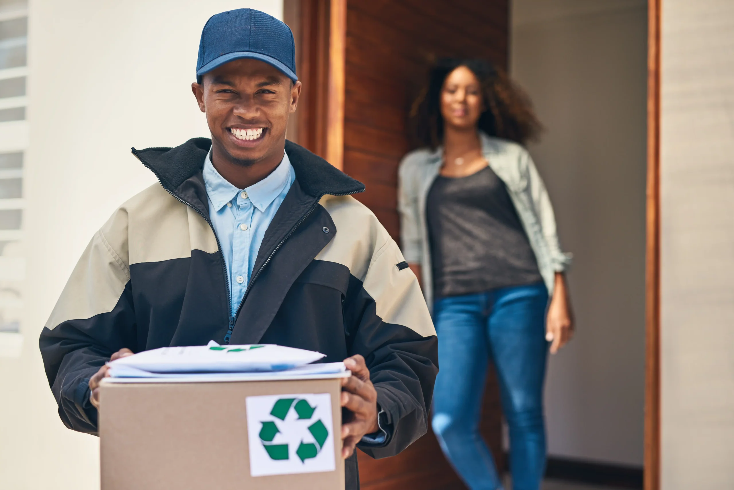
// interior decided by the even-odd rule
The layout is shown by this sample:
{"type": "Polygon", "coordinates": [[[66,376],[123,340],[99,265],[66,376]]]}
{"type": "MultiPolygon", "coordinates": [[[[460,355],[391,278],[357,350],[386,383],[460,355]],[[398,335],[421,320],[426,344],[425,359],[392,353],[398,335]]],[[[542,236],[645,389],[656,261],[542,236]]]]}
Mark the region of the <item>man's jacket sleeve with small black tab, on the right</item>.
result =
{"type": "Polygon", "coordinates": [[[349,354],[365,357],[388,425],[384,443],[358,447],[373,458],[396,455],[426,433],[438,350],[418,280],[389,236],[363,281],[352,276],[344,315],[349,354]]]}

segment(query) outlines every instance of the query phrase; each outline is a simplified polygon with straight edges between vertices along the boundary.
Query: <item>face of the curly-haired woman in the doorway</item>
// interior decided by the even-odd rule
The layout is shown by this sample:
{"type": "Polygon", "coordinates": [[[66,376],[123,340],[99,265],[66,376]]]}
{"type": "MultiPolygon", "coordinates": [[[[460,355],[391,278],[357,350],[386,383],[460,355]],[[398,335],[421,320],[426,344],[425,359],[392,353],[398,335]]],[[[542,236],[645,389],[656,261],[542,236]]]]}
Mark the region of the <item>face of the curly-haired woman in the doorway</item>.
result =
{"type": "Polygon", "coordinates": [[[441,89],[441,116],[446,126],[474,129],[484,112],[482,86],[469,68],[459,66],[448,73],[441,89]]]}

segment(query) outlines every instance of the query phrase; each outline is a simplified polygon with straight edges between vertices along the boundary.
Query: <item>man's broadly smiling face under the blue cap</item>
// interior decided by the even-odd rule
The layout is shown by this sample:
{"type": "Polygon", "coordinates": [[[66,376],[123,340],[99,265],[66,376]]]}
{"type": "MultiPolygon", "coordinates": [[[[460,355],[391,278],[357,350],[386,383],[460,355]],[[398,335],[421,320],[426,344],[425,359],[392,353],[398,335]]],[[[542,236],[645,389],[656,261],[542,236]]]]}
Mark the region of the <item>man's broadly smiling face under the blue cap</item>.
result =
{"type": "Polygon", "coordinates": [[[215,154],[238,165],[280,162],[301,82],[292,83],[266,62],[245,59],[206,73],[192,90],[206,112],[215,154]]]}

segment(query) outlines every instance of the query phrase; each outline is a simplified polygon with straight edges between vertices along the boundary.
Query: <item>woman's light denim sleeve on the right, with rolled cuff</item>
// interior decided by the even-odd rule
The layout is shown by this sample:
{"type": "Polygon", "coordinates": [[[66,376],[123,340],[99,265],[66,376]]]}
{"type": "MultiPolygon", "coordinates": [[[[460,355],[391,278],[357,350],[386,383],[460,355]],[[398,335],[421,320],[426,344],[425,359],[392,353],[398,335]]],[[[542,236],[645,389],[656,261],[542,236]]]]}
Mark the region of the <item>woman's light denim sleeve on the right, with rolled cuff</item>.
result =
{"type": "Polygon", "coordinates": [[[571,265],[573,255],[564,253],[561,250],[561,244],[556,229],[556,215],[553,213],[553,205],[551,198],[548,197],[548,190],[545,189],[543,179],[538,172],[528,151],[522,151],[521,168],[528,179],[528,189],[530,191],[531,203],[535,214],[540,223],[541,232],[545,242],[548,244],[548,251],[551,253],[551,264],[553,270],[562,273],[571,265]]]}

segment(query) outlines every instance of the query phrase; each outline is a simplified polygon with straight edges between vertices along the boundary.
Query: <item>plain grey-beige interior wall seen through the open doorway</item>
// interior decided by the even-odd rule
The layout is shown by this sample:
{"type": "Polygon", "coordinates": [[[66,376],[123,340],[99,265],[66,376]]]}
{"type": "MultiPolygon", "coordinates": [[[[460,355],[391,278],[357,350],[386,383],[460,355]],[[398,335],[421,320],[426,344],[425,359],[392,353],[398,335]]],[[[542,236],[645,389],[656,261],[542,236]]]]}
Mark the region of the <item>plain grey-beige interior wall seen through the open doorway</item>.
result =
{"type": "Polygon", "coordinates": [[[642,466],[647,2],[514,0],[510,68],[545,133],[577,331],[549,361],[552,456],[642,466]]]}

